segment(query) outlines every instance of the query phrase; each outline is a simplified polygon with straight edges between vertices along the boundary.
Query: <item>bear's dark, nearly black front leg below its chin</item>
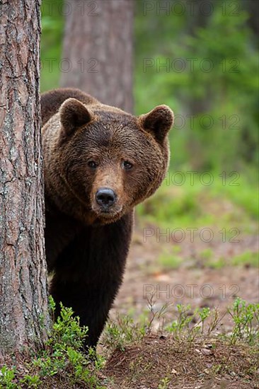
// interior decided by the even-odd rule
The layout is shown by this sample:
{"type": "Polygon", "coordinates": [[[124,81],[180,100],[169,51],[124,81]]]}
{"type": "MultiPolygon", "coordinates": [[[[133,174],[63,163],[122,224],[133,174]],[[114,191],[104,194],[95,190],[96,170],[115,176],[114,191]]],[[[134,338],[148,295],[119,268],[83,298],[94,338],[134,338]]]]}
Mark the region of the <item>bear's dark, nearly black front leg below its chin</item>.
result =
{"type": "MultiPolygon", "coordinates": [[[[86,347],[95,347],[122,282],[132,214],[105,226],[84,228],[59,255],[50,293],[88,326],[86,347]]],[[[57,314],[59,310],[57,310],[57,314]]]]}

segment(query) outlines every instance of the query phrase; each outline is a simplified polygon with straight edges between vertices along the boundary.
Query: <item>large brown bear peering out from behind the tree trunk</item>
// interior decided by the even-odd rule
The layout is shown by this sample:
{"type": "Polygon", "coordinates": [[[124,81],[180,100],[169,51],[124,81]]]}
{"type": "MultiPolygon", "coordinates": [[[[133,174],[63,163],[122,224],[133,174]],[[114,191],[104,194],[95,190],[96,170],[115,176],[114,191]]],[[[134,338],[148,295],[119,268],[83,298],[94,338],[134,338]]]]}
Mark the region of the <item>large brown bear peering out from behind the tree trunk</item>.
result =
{"type": "Polygon", "coordinates": [[[41,106],[50,293],[94,347],[122,282],[134,206],[166,175],[173,112],[134,117],[72,88],[44,93],[41,106]]]}

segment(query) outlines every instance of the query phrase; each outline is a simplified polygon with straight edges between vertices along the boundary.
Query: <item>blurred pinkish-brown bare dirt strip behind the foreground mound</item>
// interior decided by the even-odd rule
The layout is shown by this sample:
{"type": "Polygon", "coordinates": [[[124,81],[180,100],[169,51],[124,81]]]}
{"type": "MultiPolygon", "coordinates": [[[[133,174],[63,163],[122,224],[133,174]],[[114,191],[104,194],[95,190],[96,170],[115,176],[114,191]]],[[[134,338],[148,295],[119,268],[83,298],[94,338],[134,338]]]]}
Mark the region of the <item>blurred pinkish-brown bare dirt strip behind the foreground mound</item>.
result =
{"type": "MultiPolygon", "coordinates": [[[[229,262],[242,252],[258,252],[258,236],[239,236],[238,242],[234,243],[224,243],[219,237],[205,243],[197,231],[193,242],[190,239],[181,243],[172,240],[166,242],[166,237],[161,237],[157,242],[156,236],[146,239],[146,242],[144,240],[142,230],[135,228],[124,282],[114,303],[112,318],[116,313],[130,313],[137,319],[148,309],[152,295],[154,310],[160,310],[165,303],[169,304],[165,325],[173,320],[178,303],[190,303],[192,308],[217,307],[223,314],[236,296],[251,303],[259,301],[258,268],[231,266],[229,262]],[[177,256],[181,258],[180,265],[176,269],[164,269],[158,261],[161,248],[172,252],[176,246],[177,256]],[[210,267],[202,259],[200,252],[208,248],[212,250],[214,258],[223,258],[221,267],[210,267]]],[[[231,325],[229,320],[229,315],[222,319],[224,325],[221,331],[228,330],[231,325]]],[[[154,328],[158,326],[159,323],[155,321],[154,328]]]]}

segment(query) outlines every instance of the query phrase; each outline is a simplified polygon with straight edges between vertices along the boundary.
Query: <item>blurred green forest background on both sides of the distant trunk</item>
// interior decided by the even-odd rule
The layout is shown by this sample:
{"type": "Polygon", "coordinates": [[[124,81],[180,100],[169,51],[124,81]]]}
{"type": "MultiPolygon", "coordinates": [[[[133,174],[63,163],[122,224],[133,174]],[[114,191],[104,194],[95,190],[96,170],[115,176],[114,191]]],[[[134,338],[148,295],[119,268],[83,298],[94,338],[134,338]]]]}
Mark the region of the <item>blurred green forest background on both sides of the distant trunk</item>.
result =
{"type": "MultiPolygon", "coordinates": [[[[41,91],[61,76],[65,16],[62,0],[51,13],[50,3],[42,1],[41,91]]],[[[168,178],[138,208],[147,221],[216,223],[224,211],[215,219],[204,197],[258,216],[257,11],[254,0],[134,1],[134,114],[163,103],[175,112],[168,178]]]]}

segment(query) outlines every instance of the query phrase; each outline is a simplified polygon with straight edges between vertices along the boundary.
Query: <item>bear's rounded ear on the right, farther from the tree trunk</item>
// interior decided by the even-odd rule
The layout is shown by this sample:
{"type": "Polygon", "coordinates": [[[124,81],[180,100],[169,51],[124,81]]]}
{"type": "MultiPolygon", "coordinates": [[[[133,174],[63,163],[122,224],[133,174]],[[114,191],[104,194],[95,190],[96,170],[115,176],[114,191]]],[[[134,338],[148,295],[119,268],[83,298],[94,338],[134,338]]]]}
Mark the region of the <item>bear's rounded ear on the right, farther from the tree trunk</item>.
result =
{"type": "Polygon", "coordinates": [[[163,142],[169,129],[173,126],[173,111],[167,105],[158,105],[145,115],[139,116],[140,123],[146,132],[163,142]]]}

